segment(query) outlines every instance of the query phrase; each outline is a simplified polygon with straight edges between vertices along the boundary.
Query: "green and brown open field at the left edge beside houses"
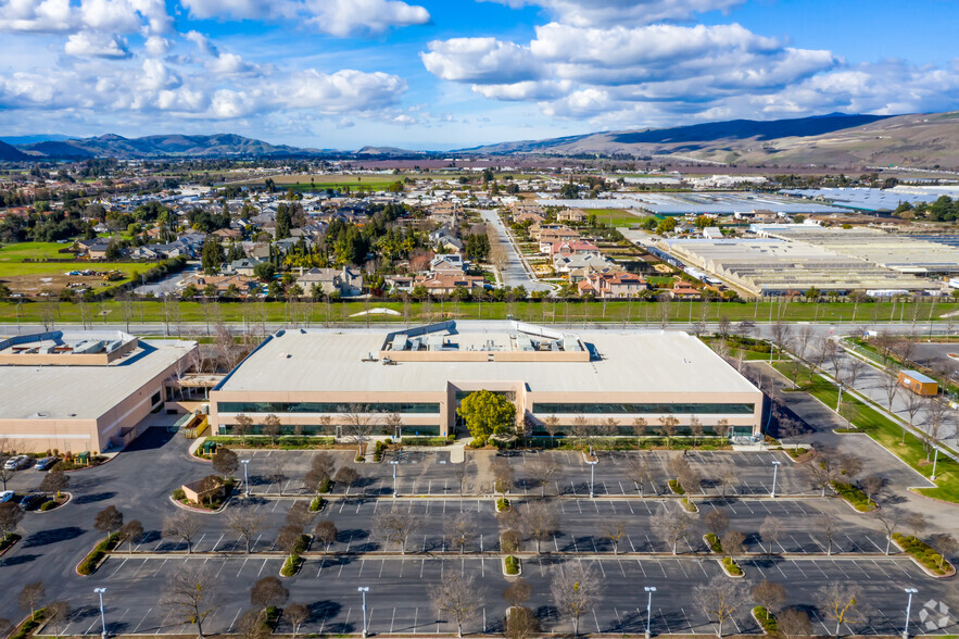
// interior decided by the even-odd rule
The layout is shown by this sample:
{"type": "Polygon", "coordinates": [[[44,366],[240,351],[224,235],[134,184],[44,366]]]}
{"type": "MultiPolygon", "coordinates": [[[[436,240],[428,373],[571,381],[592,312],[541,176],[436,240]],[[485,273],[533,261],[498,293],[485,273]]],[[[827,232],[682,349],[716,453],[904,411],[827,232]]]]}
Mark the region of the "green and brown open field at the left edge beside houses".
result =
{"type": "Polygon", "coordinates": [[[98,292],[112,287],[126,284],[141,273],[147,272],[152,264],[148,263],[116,263],[116,262],[88,262],[85,260],[72,260],[72,253],[60,251],[68,243],[56,242],[22,242],[8,245],[0,248],[0,280],[10,287],[15,293],[38,296],[42,293],[56,295],[70,284],[83,284],[98,292]],[[26,259],[42,260],[71,260],[70,262],[25,262],[26,259]],[[104,281],[100,276],[65,275],[67,271],[81,271],[92,268],[96,271],[121,271],[123,279],[104,281]]]}

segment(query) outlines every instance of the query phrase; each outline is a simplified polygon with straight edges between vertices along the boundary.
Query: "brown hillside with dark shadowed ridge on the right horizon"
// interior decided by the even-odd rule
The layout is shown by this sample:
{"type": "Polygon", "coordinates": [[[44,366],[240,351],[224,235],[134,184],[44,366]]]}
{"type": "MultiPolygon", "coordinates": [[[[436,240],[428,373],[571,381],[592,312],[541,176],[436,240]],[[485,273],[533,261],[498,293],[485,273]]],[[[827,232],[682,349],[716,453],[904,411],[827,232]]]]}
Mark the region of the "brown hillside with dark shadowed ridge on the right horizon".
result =
{"type": "Polygon", "coordinates": [[[470,154],[603,154],[756,165],[959,167],[959,112],[734,120],[464,149],[470,154]]]}

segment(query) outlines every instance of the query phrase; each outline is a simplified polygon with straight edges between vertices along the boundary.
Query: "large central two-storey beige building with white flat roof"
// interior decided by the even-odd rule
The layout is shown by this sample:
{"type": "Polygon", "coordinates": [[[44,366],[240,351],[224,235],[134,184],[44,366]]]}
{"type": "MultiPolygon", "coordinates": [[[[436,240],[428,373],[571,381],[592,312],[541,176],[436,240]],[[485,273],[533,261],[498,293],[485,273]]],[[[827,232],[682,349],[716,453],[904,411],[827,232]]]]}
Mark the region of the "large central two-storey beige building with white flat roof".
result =
{"type": "MultiPolygon", "coordinates": [[[[503,393],[517,421],[560,433],[576,421],[659,425],[693,417],[706,433],[758,435],[762,396],[702,341],[678,331],[583,330],[516,322],[444,322],[392,333],[293,329],[268,337],[210,396],[210,424],[229,434],[240,415],[254,430],[276,415],[286,431],[342,434],[371,415],[384,435],[451,435],[470,392],[503,393]],[[399,416],[402,425],[387,415],[399,416]]],[[[613,433],[610,433],[613,434],[613,433]]]]}

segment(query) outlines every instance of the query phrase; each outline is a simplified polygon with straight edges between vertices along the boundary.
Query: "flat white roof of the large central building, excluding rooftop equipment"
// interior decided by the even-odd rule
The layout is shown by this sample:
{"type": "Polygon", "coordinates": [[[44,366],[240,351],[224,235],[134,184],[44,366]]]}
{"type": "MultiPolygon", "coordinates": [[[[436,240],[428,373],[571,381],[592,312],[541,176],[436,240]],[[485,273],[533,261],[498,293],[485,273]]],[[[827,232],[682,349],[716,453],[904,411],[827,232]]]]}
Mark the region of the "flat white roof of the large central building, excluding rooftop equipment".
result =
{"type": "MultiPolygon", "coordinates": [[[[507,323],[457,322],[465,340],[502,340],[507,323]]],[[[697,338],[681,331],[577,330],[589,362],[363,362],[386,330],[287,330],[217,390],[240,392],[439,392],[446,383],[523,381],[532,392],[758,392],[697,338]]]]}

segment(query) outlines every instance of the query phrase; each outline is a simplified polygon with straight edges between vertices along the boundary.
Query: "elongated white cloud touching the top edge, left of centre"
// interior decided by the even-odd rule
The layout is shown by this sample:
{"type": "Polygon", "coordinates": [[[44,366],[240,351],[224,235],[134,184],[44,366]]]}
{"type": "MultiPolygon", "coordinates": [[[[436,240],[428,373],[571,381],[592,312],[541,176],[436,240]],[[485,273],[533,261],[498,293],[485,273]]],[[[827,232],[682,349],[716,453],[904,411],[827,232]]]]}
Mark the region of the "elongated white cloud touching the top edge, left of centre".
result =
{"type": "Polygon", "coordinates": [[[429,12],[401,0],[182,0],[199,18],[300,21],[340,38],[428,24],[429,12]]]}

